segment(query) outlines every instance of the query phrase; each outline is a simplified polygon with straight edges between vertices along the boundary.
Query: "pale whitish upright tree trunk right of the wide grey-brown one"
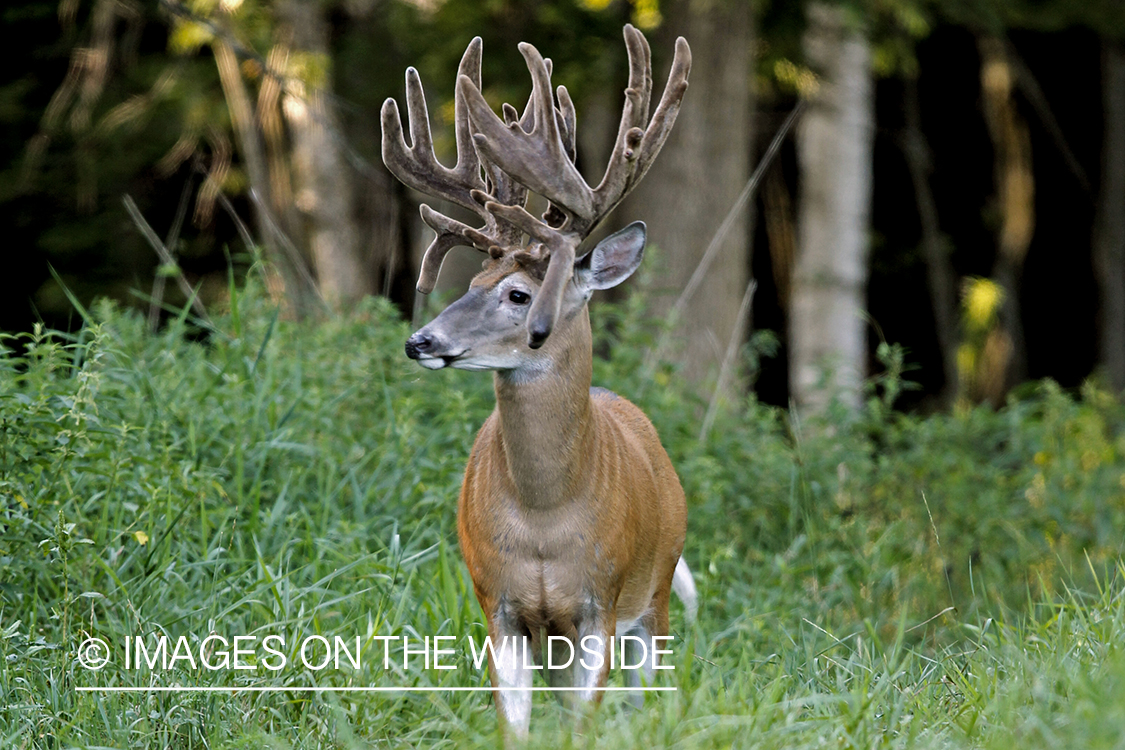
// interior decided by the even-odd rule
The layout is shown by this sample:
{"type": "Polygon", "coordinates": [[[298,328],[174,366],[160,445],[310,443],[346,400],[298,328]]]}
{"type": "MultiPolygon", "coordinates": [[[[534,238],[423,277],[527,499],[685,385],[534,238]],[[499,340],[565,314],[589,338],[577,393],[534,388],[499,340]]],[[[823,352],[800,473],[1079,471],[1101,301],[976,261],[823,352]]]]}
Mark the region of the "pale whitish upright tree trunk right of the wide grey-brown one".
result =
{"type": "Polygon", "coordinates": [[[874,94],[867,40],[842,8],[810,6],[804,47],[820,89],[798,132],[790,390],[803,412],[817,413],[834,397],[853,408],[862,398],[874,94]]]}

